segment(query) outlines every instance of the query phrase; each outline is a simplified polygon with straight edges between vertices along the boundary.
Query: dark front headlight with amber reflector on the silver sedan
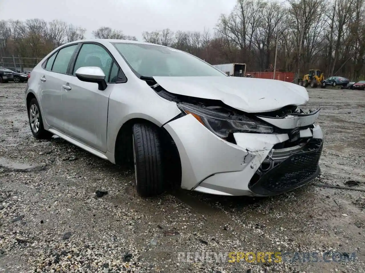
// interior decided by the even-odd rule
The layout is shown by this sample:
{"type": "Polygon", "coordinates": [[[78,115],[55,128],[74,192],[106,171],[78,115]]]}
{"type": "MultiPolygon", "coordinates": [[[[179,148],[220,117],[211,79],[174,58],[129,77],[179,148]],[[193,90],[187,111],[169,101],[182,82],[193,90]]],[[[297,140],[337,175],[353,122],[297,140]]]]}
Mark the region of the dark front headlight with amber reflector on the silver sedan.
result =
{"type": "Polygon", "coordinates": [[[177,107],[186,114],[192,114],[201,124],[222,138],[228,137],[230,132],[258,132],[264,134],[273,132],[273,127],[244,115],[231,115],[230,113],[192,104],[178,103],[177,107]]]}

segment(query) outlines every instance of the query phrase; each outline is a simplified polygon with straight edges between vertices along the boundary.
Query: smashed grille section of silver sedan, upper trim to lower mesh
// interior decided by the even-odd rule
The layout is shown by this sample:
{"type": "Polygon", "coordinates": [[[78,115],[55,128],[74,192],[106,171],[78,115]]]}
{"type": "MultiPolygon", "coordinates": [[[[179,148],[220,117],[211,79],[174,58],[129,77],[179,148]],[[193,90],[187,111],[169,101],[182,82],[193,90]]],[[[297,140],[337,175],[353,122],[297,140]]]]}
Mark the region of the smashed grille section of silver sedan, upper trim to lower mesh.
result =
{"type": "Polygon", "coordinates": [[[285,132],[288,139],[276,143],[256,173],[249,189],[258,195],[276,195],[303,186],[320,173],[319,159],[323,149],[323,135],[315,126],[320,109],[304,112],[299,107],[281,115],[266,113],[258,117],[272,124],[277,132],[285,132]]]}

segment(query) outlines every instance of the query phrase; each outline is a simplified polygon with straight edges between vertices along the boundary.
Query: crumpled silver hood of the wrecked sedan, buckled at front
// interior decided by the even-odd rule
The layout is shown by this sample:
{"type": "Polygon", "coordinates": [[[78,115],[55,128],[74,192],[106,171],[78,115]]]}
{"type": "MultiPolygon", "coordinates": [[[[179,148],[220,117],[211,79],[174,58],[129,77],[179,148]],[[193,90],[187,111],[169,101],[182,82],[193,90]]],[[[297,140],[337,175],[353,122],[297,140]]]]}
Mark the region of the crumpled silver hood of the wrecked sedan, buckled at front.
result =
{"type": "Polygon", "coordinates": [[[269,112],[308,101],[306,88],[281,80],[241,77],[160,77],[155,81],[170,93],[221,100],[249,113],[269,112]]]}

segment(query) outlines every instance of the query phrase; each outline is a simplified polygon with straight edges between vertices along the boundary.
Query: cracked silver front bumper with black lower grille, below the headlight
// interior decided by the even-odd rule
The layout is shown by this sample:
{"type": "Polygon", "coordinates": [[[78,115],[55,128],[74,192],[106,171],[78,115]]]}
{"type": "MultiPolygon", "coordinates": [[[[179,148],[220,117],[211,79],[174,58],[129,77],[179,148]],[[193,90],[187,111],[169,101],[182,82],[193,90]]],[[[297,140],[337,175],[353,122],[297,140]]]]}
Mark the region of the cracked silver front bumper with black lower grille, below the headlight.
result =
{"type": "Polygon", "coordinates": [[[192,115],[164,127],[180,154],[183,189],[270,196],[303,186],[320,172],[323,134],[319,126],[301,130],[300,145],[279,149],[289,141],[288,134],[234,133],[237,144],[233,144],[217,137],[192,115]]]}

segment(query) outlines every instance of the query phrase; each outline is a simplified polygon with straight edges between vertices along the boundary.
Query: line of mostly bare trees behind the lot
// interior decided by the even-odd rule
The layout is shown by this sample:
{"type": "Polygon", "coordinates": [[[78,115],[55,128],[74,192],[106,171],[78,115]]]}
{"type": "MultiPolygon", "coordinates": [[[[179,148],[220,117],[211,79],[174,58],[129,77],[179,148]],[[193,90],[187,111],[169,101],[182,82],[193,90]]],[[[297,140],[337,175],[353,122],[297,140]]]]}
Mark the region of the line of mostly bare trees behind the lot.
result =
{"type": "MultiPolygon", "coordinates": [[[[143,32],[144,41],[187,51],[211,64],[242,62],[247,71],[320,69],[326,77],[365,75],[364,0],[237,0],[214,29],[143,32]]],[[[43,58],[53,48],[84,38],[86,29],[63,21],[0,21],[0,53],[43,58]]],[[[96,38],[137,40],[101,27],[96,38]]]]}

